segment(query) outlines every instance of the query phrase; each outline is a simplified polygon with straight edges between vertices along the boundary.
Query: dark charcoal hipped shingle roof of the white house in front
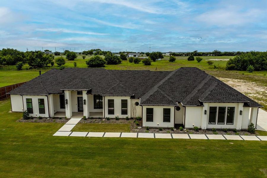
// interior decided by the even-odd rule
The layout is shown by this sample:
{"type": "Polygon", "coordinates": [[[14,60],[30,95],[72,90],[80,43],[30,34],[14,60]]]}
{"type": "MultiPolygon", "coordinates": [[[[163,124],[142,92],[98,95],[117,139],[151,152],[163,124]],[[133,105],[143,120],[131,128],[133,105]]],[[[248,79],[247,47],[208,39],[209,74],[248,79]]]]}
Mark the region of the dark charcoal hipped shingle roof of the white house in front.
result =
{"type": "Polygon", "coordinates": [[[52,69],[9,94],[52,94],[63,90],[90,90],[103,95],[141,98],[140,104],[202,106],[203,102],[260,104],[194,67],[175,71],[106,70],[92,68],[52,69]]]}

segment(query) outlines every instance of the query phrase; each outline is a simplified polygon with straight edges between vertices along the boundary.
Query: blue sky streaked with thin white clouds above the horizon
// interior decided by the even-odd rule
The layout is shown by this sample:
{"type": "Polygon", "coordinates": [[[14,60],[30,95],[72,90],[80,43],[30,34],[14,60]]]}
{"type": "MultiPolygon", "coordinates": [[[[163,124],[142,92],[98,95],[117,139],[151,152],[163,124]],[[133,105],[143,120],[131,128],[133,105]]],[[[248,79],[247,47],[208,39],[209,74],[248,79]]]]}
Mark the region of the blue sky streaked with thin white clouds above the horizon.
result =
{"type": "Polygon", "coordinates": [[[0,1],[0,47],[266,51],[267,1],[0,1]]]}

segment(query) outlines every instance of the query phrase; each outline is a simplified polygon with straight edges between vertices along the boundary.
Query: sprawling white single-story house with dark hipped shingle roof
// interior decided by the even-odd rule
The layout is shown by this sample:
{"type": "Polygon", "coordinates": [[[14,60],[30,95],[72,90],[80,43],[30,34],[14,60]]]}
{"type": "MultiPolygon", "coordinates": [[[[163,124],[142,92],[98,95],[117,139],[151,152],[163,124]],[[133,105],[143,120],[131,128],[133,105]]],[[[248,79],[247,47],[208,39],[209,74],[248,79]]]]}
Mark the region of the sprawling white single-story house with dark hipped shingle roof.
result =
{"type": "Polygon", "coordinates": [[[52,69],[9,92],[33,117],[142,117],[143,126],[247,129],[257,102],[195,67],[175,71],[52,69]]]}

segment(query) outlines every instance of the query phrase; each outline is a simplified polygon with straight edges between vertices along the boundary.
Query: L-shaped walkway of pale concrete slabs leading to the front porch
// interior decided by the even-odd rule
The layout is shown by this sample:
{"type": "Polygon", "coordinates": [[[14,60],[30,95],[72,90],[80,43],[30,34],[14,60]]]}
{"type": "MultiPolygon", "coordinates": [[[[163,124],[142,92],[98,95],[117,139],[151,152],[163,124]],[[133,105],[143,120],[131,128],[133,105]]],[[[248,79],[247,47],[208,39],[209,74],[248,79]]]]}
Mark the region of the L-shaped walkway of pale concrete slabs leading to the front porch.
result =
{"type": "Polygon", "coordinates": [[[71,132],[81,119],[71,118],[53,136],[82,137],[124,137],[124,138],[158,138],[158,139],[210,139],[210,140],[257,140],[267,141],[267,136],[239,135],[206,135],[206,134],[154,134],[154,133],[124,133],[124,132],[71,132]]]}

